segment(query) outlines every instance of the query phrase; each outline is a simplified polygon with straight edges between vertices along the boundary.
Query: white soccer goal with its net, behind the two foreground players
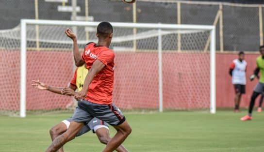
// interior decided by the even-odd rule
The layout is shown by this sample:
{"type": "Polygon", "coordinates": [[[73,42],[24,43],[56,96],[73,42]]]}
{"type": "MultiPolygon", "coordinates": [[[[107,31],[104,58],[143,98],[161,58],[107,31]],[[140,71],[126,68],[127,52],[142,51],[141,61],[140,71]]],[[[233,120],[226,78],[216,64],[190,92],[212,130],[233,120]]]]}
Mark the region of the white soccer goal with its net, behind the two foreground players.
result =
{"type": "MultiPolygon", "coordinates": [[[[99,22],[21,20],[0,31],[0,114],[73,111],[71,97],[39,91],[40,80],[65,87],[74,73],[72,41],[80,51],[97,42],[99,22]]],[[[115,52],[113,102],[123,111],[166,109],[215,112],[213,26],[112,23],[115,52]]]]}

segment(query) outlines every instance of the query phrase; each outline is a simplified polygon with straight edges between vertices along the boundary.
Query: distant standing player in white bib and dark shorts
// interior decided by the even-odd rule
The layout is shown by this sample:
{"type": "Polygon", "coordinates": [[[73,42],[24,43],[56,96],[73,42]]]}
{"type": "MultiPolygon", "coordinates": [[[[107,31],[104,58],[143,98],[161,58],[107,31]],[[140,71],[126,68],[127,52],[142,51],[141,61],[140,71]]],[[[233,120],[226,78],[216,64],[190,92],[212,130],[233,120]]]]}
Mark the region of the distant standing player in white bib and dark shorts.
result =
{"type": "Polygon", "coordinates": [[[247,62],[244,60],[244,52],[238,53],[238,59],[232,61],[229,74],[232,76],[232,84],[235,89],[235,108],[234,112],[239,112],[241,95],[244,94],[246,86],[247,62]]]}

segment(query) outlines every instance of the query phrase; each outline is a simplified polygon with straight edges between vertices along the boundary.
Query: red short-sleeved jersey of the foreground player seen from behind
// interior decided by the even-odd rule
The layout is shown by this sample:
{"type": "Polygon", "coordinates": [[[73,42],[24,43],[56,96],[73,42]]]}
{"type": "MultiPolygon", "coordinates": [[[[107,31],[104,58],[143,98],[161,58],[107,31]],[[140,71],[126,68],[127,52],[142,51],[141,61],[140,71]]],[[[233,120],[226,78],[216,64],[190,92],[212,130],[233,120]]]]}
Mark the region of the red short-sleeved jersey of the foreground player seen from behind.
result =
{"type": "Polygon", "coordinates": [[[114,58],[115,53],[108,47],[96,46],[95,43],[89,43],[85,46],[82,60],[85,61],[88,70],[91,69],[96,60],[105,64],[105,67],[95,75],[91,82],[85,100],[102,105],[112,103],[115,66],[114,58]]]}

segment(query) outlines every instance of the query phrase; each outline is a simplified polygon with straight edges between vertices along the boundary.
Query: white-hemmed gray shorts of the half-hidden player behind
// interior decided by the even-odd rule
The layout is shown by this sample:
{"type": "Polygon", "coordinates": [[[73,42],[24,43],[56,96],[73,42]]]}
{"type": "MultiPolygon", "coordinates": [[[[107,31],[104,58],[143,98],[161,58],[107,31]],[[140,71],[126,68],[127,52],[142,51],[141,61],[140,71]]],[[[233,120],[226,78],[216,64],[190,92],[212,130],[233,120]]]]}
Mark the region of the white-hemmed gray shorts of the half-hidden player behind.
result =
{"type": "MultiPolygon", "coordinates": [[[[72,121],[72,117],[62,121],[66,124],[67,128],[69,128],[70,122],[72,121]]],[[[76,137],[81,136],[82,134],[87,133],[88,131],[92,130],[93,133],[97,131],[99,128],[106,128],[109,130],[108,125],[106,122],[99,120],[98,118],[92,119],[90,122],[85,123],[82,127],[82,130],[76,135],[76,137]]]]}

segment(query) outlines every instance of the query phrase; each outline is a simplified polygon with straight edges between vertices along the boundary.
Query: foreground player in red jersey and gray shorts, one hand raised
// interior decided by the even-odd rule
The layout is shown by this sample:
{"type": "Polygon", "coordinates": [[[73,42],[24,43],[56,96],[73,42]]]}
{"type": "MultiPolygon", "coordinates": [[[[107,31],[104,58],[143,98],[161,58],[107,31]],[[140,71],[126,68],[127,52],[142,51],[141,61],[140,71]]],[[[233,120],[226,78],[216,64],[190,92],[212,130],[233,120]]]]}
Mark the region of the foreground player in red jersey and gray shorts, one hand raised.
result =
{"type": "Polygon", "coordinates": [[[76,66],[86,63],[89,70],[82,91],[75,95],[80,98],[68,130],[56,137],[46,152],[56,152],[67,141],[73,139],[85,122],[94,117],[112,125],[115,136],[107,143],[102,152],[113,152],[129,136],[132,129],[123,113],[112,103],[114,86],[115,53],[108,47],[113,37],[113,27],[108,22],[101,22],[97,27],[98,43],[88,43],[81,56],[77,37],[66,29],[66,35],[73,40],[74,61],[76,66]]]}

